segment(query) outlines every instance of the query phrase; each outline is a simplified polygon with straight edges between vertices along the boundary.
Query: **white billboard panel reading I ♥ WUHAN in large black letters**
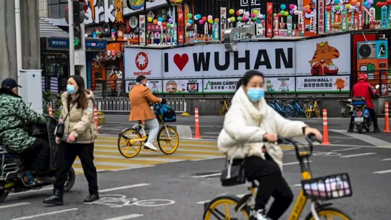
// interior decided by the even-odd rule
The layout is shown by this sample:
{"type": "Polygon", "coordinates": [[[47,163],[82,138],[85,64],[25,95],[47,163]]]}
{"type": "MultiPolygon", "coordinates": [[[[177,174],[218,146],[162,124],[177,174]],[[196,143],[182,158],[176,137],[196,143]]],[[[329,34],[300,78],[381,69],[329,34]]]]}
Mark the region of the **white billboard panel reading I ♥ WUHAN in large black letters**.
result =
{"type": "Polygon", "coordinates": [[[243,42],[238,51],[228,52],[223,44],[163,50],[163,78],[241,77],[246,70],[259,70],[265,76],[294,75],[295,43],[243,42]]]}

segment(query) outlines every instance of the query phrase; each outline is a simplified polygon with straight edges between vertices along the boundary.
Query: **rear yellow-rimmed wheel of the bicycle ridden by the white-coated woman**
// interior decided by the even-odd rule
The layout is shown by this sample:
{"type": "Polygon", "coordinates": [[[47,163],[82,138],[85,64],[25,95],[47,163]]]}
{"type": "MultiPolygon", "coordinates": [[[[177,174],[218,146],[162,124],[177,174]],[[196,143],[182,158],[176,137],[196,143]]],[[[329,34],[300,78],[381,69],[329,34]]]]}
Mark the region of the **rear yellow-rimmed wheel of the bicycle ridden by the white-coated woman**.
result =
{"type": "Polygon", "coordinates": [[[235,206],[238,204],[239,200],[240,198],[234,195],[223,195],[213,199],[209,202],[208,206],[205,207],[203,220],[248,219],[250,207],[244,206],[242,210],[235,212],[235,206]],[[232,212],[230,212],[230,209],[232,212]]]}

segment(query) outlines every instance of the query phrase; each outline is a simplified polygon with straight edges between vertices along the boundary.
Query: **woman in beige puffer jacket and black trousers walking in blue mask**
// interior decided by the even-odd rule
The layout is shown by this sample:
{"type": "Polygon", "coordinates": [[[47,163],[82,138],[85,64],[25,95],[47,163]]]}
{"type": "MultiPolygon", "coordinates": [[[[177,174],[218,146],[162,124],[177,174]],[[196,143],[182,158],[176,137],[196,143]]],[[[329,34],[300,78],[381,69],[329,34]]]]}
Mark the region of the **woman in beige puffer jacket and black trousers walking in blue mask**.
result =
{"type": "Polygon", "coordinates": [[[63,205],[63,190],[67,173],[76,156],[79,156],[84,175],[88,181],[89,195],[84,202],[99,200],[97,171],[93,163],[94,141],[97,129],[93,118],[94,96],[84,89],[84,79],[74,75],[68,79],[66,92],[61,95],[63,108],[59,123],[64,123],[64,137],[56,138],[59,145],[56,181],[53,183],[53,196],[44,203],[63,205]]]}

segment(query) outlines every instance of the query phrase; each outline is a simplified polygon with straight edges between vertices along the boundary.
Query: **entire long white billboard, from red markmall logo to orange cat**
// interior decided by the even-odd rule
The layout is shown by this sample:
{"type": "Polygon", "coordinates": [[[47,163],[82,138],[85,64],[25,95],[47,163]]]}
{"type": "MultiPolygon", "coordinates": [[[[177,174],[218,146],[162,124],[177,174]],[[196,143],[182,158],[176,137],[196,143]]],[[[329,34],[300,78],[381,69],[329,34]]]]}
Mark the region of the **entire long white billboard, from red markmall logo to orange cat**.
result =
{"type": "Polygon", "coordinates": [[[233,92],[233,83],[247,70],[264,73],[265,89],[271,93],[350,89],[350,34],[304,41],[239,42],[237,48],[235,52],[227,52],[223,44],[125,48],[125,76],[163,80],[163,93],[170,86],[175,88],[171,93],[233,92]],[[187,86],[190,80],[197,80],[193,89],[187,86]]]}

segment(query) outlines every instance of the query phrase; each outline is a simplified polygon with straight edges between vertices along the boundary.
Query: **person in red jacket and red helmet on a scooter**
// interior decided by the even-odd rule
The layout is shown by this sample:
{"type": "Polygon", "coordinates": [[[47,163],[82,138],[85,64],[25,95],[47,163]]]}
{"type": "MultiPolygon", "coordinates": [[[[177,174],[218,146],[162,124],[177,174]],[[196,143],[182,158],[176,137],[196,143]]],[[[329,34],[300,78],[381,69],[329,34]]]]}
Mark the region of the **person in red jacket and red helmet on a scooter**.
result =
{"type": "MultiPolygon", "coordinates": [[[[369,114],[371,114],[372,122],[373,122],[373,128],[375,133],[380,133],[380,129],[378,128],[377,124],[377,115],[375,112],[375,109],[372,103],[372,99],[377,98],[375,95],[375,92],[372,89],[372,86],[368,83],[368,76],[365,73],[361,73],[359,75],[359,81],[353,86],[352,93],[350,94],[351,97],[357,97],[362,96],[366,100],[366,107],[368,108],[369,114]]],[[[348,132],[353,132],[353,123],[354,123],[354,116],[352,116],[350,120],[349,130],[348,132]]]]}

